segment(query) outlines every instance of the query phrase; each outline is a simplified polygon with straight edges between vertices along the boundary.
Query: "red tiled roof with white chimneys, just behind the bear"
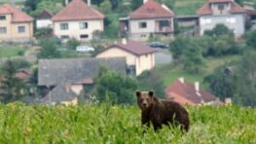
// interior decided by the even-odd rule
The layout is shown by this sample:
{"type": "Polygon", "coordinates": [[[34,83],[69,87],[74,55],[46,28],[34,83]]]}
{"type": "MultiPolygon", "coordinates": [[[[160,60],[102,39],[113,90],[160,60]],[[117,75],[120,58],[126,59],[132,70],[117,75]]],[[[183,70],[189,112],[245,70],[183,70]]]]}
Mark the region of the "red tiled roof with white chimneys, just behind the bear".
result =
{"type": "Polygon", "coordinates": [[[197,91],[194,85],[186,81],[181,82],[180,80],[177,80],[172,83],[165,91],[168,95],[168,98],[174,96],[177,100],[183,99],[182,101],[177,101],[182,104],[190,102],[194,104],[201,104],[201,101],[207,103],[217,100],[217,98],[211,93],[201,89],[197,91]]]}

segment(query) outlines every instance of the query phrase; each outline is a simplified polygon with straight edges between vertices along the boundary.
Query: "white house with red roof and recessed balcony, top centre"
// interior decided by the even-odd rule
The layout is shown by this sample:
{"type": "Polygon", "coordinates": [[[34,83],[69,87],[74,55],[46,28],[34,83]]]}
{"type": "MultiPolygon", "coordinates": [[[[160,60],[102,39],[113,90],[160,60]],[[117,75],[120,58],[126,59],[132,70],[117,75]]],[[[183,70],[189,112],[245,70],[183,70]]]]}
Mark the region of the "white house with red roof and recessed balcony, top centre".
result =
{"type": "Polygon", "coordinates": [[[170,37],[174,31],[174,13],[155,0],[144,0],[128,18],[120,18],[121,33],[133,40],[148,40],[151,35],[170,37]]]}

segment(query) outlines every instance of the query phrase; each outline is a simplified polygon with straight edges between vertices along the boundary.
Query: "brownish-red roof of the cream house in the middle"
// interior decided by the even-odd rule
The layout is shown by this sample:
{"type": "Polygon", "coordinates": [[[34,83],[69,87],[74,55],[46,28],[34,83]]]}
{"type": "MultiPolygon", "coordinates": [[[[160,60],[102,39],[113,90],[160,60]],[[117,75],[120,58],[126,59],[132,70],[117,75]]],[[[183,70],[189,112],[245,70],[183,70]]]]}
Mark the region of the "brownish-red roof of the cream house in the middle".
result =
{"type": "MultiPolygon", "coordinates": [[[[136,41],[131,41],[128,40],[127,44],[122,44],[122,43],[118,43],[118,44],[114,44],[110,47],[108,47],[107,49],[105,49],[103,52],[112,49],[112,48],[119,48],[122,49],[128,53],[131,54],[135,54],[135,55],[142,55],[142,54],[152,54],[152,53],[156,53],[157,51],[152,49],[151,47],[144,45],[140,42],[136,42],[136,41]]],[[[103,53],[101,52],[101,53],[103,53]]]]}

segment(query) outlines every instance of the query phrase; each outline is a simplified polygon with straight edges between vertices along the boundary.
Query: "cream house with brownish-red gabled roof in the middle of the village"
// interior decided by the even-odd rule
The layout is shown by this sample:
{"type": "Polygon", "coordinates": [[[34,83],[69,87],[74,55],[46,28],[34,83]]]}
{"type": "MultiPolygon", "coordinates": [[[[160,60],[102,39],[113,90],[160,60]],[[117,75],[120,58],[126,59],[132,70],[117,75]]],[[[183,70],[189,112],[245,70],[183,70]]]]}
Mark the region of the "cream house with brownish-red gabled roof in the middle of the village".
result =
{"type": "Polygon", "coordinates": [[[123,39],[96,55],[98,58],[126,57],[128,75],[138,76],[155,67],[156,50],[140,42],[123,39]]]}

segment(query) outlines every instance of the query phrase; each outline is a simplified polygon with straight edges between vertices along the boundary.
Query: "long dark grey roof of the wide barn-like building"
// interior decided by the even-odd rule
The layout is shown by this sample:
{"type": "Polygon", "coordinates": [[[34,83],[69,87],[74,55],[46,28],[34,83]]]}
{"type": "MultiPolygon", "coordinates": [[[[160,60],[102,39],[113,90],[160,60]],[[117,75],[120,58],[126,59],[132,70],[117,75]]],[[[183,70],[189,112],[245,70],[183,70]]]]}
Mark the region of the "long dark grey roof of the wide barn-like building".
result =
{"type": "Polygon", "coordinates": [[[125,57],[40,59],[38,86],[56,86],[94,78],[101,65],[107,66],[112,71],[127,74],[125,57]]]}

